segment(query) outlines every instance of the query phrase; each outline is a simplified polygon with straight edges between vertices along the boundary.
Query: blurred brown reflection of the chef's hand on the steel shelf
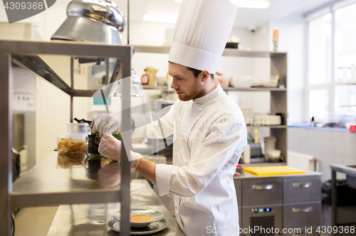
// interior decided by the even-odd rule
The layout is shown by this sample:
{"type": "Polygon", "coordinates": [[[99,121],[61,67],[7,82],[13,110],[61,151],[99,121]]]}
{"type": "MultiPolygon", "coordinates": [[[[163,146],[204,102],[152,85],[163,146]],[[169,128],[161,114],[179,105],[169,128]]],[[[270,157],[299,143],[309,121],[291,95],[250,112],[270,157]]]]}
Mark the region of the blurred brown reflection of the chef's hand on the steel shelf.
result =
{"type": "Polygon", "coordinates": [[[109,188],[117,186],[121,182],[121,166],[120,163],[110,163],[98,171],[100,186],[109,188]]]}

